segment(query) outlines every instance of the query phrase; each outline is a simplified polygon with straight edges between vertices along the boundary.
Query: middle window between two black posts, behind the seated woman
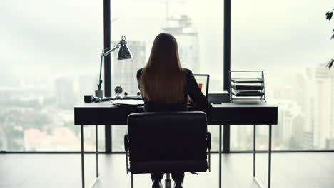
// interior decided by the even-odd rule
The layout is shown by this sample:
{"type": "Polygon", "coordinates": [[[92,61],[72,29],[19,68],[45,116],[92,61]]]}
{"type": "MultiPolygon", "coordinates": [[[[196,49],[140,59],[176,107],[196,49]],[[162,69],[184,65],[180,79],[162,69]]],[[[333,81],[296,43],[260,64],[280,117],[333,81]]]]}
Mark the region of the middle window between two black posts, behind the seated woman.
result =
{"type": "MultiPolygon", "coordinates": [[[[133,58],[117,61],[116,53],[112,54],[112,91],[121,85],[128,95],[138,93],[136,71],[145,66],[161,32],[176,37],[183,68],[210,74],[209,90],[223,90],[223,1],[113,0],[111,46],[126,36],[133,58]]],[[[112,132],[113,151],[123,151],[126,127],[113,126],[112,132]]]]}

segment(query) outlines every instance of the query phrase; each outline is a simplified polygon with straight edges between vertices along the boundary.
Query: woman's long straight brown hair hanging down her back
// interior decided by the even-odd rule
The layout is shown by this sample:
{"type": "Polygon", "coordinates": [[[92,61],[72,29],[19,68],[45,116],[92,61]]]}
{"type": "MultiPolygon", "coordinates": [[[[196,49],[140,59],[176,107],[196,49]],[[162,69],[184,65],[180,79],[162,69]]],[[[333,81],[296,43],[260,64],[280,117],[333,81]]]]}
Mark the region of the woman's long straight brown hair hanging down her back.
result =
{"type": "Polygon", "coordinates": [[[151,102],[181,102],[185,96],[185,82],[176,39],[171,34],[160,33],[154,39],[150,58],[141,72],[141,95],[151,102]]]}

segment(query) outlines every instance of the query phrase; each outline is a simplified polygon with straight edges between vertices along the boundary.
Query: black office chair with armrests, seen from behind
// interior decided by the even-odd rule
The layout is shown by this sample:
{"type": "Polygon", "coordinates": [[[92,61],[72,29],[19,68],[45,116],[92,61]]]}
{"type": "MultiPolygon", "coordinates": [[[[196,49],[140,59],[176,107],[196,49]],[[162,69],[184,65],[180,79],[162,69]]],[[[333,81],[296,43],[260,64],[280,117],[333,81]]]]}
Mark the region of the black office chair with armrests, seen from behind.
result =
{"type": "Polygon", "coordinates": [[[128,115],[124,146],[131,188],[133,174],[167,173],[165,187],[170,188],[172,172],[210,172],[211,134],[203,112],[128,115]]]}

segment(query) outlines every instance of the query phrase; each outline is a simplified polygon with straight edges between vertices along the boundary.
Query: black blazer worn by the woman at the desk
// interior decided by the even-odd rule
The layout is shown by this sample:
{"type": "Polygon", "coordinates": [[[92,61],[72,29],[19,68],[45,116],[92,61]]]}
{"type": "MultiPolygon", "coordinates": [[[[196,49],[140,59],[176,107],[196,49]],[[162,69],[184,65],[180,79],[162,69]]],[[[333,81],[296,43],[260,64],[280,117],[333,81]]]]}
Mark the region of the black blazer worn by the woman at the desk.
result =
{"type": "MultiPolygon", "coordinates": [[[[143,69],[139,69],[137,71],[137,80],[138,80],[138,88],[140,88],[140,78],[141,71],[143,69]]],[[[148,101],[144,98],[144,111],[145,112],[161,112],[161,111],[187,111],[188,110],[188,102],[187,97],[191,98],[195,103],[197,110],[204,111],[206,114],[211,113],[212,105],[206,99],[206,96],[203,95],[200,88],[198,87],[198,83],[193,77],[193,73],[191,70],[183,68],[184,75],[186,76],[186,91],[184,93],[184,100],[179,103],[156,103],[152,101],[148,101]]]]}

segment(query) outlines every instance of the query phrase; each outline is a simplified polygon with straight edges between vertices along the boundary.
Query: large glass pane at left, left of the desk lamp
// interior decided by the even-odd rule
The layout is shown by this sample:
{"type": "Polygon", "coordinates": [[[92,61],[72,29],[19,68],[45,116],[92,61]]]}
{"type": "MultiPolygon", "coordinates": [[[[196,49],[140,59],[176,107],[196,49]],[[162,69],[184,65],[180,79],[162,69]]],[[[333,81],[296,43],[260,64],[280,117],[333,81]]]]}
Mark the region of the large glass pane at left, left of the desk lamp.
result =
{"type": "Polygon", "coordinates": [[[0,21],[0,150],[79,151],[74,105],[98,83],[103,2],[2,1],[0,21]]]}

